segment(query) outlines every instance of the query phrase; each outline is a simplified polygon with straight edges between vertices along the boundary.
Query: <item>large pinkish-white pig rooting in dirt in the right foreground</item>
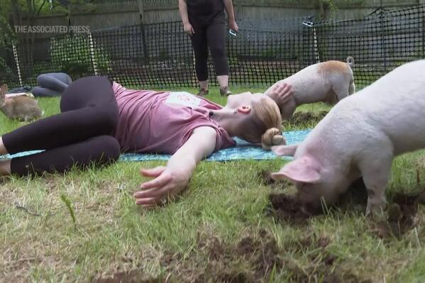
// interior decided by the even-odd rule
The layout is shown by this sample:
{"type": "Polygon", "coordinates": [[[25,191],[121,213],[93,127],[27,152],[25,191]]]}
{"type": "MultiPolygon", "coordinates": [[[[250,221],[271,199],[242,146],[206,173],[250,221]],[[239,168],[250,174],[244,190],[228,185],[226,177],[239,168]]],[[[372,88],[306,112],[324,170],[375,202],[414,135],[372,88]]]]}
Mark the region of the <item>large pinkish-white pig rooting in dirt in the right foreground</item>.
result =
{"type": "Polygon", "coordinates": [[[273,179],[289,179],[303,211],[332,204],[363,177],[366,214],[385,206],[392,159],[425,148],[425,60],[410,62],[341,100],[299,145],[277,146],[293,155],[273,179]]]}

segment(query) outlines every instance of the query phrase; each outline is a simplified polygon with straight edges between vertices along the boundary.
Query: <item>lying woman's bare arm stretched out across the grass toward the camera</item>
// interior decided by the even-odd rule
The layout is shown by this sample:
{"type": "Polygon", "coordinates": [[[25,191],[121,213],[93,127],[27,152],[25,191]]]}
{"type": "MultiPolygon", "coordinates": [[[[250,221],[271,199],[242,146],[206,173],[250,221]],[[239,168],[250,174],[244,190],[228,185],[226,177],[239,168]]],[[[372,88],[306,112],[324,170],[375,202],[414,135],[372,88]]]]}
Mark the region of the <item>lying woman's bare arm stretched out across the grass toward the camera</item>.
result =
{"type": "Polygon", "coordinates": [[[197,163],[214,151],[216,135],[214,128],[196,128],[187,142],[172,155],[167,166],[142,169],[143,176],[155,179],[141,184],[142,190],[134,194],[136,204],[155,206],[180,193],[187,186],[197,163]]]}

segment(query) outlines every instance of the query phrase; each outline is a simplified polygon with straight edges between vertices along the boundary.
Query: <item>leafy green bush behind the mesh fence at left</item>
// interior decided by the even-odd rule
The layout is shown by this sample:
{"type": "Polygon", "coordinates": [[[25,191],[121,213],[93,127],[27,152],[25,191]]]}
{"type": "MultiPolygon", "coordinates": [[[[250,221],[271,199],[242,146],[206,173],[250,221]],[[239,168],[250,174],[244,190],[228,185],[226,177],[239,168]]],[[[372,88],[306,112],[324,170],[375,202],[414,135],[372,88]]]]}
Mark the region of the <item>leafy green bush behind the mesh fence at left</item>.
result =
{"type": "MultiPolygon", "coordinates": [[[[50,57],[53,65],[71,77],[78,78],[94,74],[89,39],[82,35],[70,35],[65,38],[52,38],[50,57]]],[[[95,45],[95,44],[94,44],[95,45]]],[[[109,55],[99,46],[93,48],[99,74],[111,71],[109,55]]]]}

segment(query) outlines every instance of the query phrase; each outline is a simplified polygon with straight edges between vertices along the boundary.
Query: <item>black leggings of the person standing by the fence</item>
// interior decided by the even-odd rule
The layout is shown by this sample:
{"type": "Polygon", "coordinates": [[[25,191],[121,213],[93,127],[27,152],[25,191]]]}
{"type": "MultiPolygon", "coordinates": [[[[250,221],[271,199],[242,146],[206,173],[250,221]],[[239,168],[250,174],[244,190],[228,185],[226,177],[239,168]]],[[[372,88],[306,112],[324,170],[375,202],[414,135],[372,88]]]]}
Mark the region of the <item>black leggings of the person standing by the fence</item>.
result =
{"type": "Polygon", "coordinates": [[[192,35],[192,46],[195,53],[195,70],[199,82],[208,79],[208,48],[214,61],[216,75],[228,75],[223,14],[220,13],[207,24],[192,23],[192,20],[190,23],[195,31],[192,35]]]}

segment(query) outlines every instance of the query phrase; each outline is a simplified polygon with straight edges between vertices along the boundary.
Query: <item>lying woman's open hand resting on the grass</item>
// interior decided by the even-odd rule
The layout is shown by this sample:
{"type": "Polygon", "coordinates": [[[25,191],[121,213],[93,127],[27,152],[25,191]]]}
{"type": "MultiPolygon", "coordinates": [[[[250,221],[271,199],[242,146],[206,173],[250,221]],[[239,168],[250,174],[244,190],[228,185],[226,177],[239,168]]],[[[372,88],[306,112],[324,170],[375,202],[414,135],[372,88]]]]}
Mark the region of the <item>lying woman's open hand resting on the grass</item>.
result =
{"type": "Polygon", "coordinates": [[[175,172],[165,166],[142,169],[140,174],[155,178],[141,184],[140,189],[142,191],[133,195],[136,198],[136,204],[147,208],[173,199],[174,196],[182,192],[190,179],[190,174],[187,174],[187,172],[175,172]]]}

